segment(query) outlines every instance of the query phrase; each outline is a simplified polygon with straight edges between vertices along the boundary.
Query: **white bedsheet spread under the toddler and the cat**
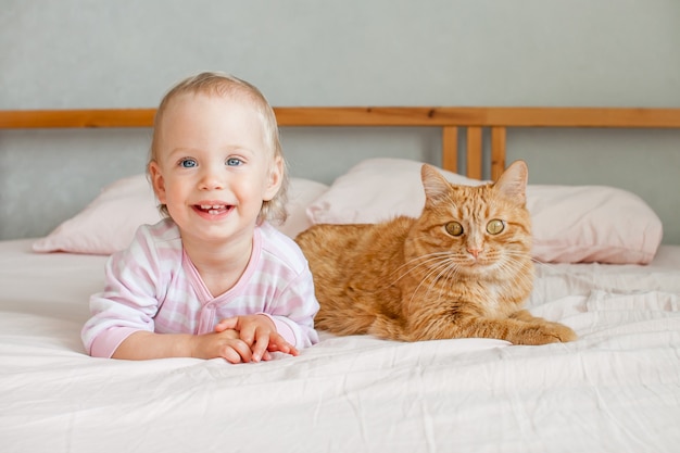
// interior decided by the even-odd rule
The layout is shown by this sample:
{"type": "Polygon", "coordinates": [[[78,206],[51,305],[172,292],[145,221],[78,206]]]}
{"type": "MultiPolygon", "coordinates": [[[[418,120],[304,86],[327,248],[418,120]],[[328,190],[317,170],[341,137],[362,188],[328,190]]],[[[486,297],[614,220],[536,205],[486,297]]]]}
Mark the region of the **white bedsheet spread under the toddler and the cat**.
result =
{"type": "Polygon", "coordinates": [[[323,335],[261,364],[85,354],[104,257],[0,242],[2,452],[680,451],[680,247],[641,266],[539,266],[516,347],[323,335]]]}

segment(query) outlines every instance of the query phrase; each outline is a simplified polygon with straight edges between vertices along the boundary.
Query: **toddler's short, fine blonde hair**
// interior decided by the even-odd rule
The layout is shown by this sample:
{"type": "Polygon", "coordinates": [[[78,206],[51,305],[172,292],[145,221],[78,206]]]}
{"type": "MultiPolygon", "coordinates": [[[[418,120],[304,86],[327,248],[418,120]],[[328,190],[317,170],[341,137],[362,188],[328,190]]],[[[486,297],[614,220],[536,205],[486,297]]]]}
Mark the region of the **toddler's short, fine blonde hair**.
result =
{"type": "MultiPolygon", "coordinates": [[[[169,102],[179,95],[185,93],[202,93],[209,96],[218,96],[223,98],[232,96],[244,96],[245,99],[252,101],[255,113],[260,116],[262,122],[262,128],[264,131],[264,142],[273,151],[273,158],[279,158],[281,160],[281,186],[278,192],[272,200],[264,201],[260,214],[257,216],[257,223],[269,221],[281,224],[286,222],[288,213],[286,212],[286,201],[288,198],[288,168],[286,160],[284,159],[284,152],[281,150],[281,141],[279,138],[279,130],[276,123],[276,116],[274,109],[269,105],[264,95],[252,84],[245,80],[241,80],[229,74],[217,72],[205,72],[196,76],[188,77],[173,88],[163,97],[161,104],[155,113],[153,119],[153,138],[151,140],[151,149],[149,153],[149,162],[158,162],[159,153],[159,126],[163,121],[163,114],[169,102]]],[[[147,172],[149,165],[147,164],[147,172]]],[[[169,212],[165,204],[160,204],[159,210],[161,213],[169,217],[169,212]]]]}

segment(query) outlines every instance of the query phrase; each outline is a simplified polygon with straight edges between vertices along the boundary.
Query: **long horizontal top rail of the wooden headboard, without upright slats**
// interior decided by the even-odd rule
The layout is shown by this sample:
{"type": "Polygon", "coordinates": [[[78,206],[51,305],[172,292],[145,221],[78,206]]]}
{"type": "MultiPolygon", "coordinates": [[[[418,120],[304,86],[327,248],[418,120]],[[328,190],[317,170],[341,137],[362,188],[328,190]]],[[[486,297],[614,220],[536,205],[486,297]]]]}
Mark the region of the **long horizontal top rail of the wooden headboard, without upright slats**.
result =
{"type": "MultiPolygon", "coordinates": [[[[680,128],[680,109],[637,108],[275,108],[280,126],[506,126],[680,128]]],[[[0,129],[150,127],[155,109],[0,111],[0,129]]]]}

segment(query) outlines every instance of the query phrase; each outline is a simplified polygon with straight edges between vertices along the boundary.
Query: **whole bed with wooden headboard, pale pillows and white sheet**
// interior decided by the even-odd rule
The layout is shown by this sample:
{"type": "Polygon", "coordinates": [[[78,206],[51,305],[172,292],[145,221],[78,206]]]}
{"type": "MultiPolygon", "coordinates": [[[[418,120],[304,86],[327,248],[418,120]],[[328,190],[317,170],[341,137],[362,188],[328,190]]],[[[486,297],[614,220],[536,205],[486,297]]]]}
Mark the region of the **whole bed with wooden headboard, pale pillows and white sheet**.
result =
{"type": "MultiPolygon", "coordinates": [[[[290,127],[440,128],[442,172],[461,184],[500,175],[514,128],[680,128],[673,109],[276,113],[290,127]]],[[[152,117],[151,109],[5,111],[0,128],[148,127],[152,117]]],[[[419,165],[369,159],[330,185],[292,178],[291,218],[281,228],[294,236],[313,223],[416,215],[419,165]]],[[[143,175],[118,180],[50,235],[0,241],[0,449],[678,451],[680,246],[662,244],[654,211],[625,190],[530,185],[528,205],[539,262],[528,307],[574,328],[572,343],[402,343],[320,332],[300,356],[260,364],[128,362],[88,356],[79,337],[106,255],[158,218],[143,175]]]]}

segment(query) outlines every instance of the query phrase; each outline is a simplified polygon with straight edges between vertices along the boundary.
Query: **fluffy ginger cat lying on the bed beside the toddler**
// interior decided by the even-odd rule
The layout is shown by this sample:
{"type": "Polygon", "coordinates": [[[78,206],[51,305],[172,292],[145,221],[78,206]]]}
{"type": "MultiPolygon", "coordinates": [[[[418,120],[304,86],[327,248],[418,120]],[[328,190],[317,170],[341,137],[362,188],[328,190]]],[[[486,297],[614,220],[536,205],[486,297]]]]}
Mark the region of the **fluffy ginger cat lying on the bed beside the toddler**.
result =
{"type": "Polygon", "coordinates": [[[533,285],[527,165],[495,184],[450,184],[423,165],[418,218],[316,225],[295,239],[320,311],[315,327],[419,341],[498,338],[515,344],[576,339],[568,327],[522,310],[533,285]]]}

